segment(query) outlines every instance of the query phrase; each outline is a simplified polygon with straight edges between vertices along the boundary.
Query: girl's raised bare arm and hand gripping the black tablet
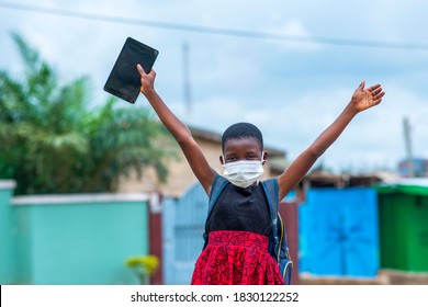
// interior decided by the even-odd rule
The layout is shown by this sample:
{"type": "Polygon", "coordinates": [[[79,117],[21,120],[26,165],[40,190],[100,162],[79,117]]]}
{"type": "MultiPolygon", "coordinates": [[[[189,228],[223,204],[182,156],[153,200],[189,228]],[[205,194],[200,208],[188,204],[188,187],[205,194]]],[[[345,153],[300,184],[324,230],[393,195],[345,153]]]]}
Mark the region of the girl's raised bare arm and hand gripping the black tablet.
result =
{"type": "Polygon", "coordinates": [[[156,72],[151,70],[149,73],[146,73],[140,65],[137,65],[137,69],[142,76],[142,93],[158,114],[166,128],[176,138],[193,173],[201,182],[206,194],[210,195],[213,180],[217,174],[216,171],[210,167],[189,128],[169,110],[156,92],[154,87],[156,72]]]}

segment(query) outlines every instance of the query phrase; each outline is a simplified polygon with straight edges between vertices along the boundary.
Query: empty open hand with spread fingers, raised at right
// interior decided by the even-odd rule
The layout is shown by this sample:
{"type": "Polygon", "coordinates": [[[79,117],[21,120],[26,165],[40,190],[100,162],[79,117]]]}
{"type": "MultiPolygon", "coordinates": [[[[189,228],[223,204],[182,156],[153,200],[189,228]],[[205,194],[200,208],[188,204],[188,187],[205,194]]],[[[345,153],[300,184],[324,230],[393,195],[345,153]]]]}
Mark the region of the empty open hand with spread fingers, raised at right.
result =
{"type": "Polygon", "coordinates": [[[351,105],[357,112],[361,112],[380,104],[382,98],[385,95],[385,92],[382,91],[381,84],[374,84],[367,89],[364,89],[364,86],[365,82],[362,81],[352,94],[351,105]]]}

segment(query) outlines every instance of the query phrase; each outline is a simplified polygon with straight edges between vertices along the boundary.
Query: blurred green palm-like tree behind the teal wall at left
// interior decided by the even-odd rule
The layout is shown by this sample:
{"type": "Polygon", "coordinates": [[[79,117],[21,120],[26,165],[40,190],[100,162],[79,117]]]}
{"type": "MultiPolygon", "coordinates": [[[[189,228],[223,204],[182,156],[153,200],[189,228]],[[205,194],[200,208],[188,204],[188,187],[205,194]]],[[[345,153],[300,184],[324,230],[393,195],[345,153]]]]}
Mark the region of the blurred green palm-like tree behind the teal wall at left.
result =
{"type": "Polygon", "coordinates": [[[0,70],[0,178],[15,179],[16,194],[114,192],[119,179],[165,161],[176,147],[147,107],[111,98],[90,104],[89,79],[60,84],[54,69],[12,35],[25,69],[0,70]]]}

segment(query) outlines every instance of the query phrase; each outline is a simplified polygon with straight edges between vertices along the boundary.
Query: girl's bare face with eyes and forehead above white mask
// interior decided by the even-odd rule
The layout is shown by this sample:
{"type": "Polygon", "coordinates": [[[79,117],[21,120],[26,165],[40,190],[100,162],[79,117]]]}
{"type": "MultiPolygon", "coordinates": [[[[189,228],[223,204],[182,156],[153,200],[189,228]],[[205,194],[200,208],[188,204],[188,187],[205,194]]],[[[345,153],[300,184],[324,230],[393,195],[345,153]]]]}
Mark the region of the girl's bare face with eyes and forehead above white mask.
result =
{"type": "Polygon", "coordinates": [[[226,140],[219,161],[222,164],[225,164],[240,160],[260,161],[267,158],[268,154],[260,148],[259,143],[255,138],[248,137],[226,140]]]}

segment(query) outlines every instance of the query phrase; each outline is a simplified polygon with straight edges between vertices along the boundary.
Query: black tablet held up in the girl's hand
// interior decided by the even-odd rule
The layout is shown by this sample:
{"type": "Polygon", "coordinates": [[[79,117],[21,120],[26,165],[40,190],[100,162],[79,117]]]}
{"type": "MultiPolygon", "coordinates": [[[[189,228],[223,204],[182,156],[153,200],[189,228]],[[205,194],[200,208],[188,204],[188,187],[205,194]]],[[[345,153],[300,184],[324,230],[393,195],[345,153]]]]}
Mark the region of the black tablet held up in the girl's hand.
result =
{"type": "Polygon", "coordinates": [[[104,91],[135,103],[142,87],[137,64],[148,73],[158,54],[158,50],[127,37],[105,82],[104,91]]]}

